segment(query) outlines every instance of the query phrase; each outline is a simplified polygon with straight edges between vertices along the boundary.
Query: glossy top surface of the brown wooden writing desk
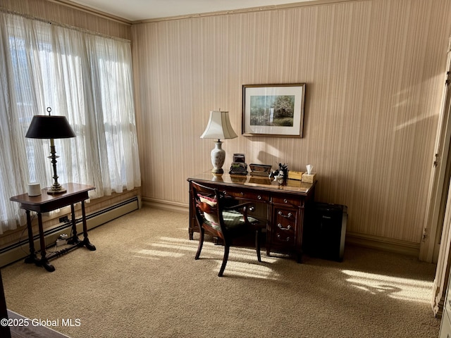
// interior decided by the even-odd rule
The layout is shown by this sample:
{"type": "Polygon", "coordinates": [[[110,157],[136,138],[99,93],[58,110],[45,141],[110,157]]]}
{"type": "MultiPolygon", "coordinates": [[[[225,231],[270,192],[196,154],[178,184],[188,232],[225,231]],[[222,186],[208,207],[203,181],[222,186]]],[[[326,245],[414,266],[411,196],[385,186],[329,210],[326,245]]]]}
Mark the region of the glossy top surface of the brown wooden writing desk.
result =
{"type": "Polygon", "coordinates": [[[187,179],[188,181],[210,182],[218,185],[228,185],[237,187],[254,187],[257,189],[271,190],[276,192],[287,192],[297,194],[308,194],[315,186],[314,183],[306,183],[298,180],[287,180],[285,185],[269,179],[268,177],[250,175],[229,175],[215,176],[210,171],[197,174],[187,179]]]}

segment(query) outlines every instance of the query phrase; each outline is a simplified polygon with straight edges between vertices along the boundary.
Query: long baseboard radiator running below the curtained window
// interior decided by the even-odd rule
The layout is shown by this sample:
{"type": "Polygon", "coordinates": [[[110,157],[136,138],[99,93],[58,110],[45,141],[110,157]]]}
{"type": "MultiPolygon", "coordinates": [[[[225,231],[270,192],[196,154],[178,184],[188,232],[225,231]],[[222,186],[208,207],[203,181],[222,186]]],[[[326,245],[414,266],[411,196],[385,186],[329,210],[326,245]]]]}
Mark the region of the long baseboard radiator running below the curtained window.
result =
{"type": "MultiPolygon", "coordinates": [[[[132,199],[128,199],[126,201],[122,201],[121,203],[115,204],[113,206],[109,206],[108,208],[101,209],[99,211],[94,211],[93,213],[89,213],[86,215],[86,225],[87,229],[91,230],[94,227],[98,227],[99,225],[103,225],[110,220],[121,217],[126,213],[130,213],[139,209],[141,206],[141,201],[138,196],[133,197],[132,199]]],[[[70,215],[69,215],[70,219],[70,215]]],[[[81,215],[76,219],[77,223],[77,234],[82,239],[83,233],[83,225],[81,215]]],[[[60,223],[56,227],[53,227],[51,230],[44,231],[45,242],[47,247],[55,246],[56,239],[58,239],[60,234],[71,234],[72,223],[60,223]]],[[[39,235],[35,234],[33,237],[35,241],[35,250],[40,250],[39,244],[39,235]]],[[[24,236],[20,239],[16,244],[11,244],[10,246],[6,246],[5,248],[0,250],[0,268],[2,266],[11,264],[20,259],[25,258],[30,254],[30,246],[28,244],[27,232],[25,230],[24,236]]],[[[37,257],[40,258],[40,253],[37,253],[37,257]]]]}

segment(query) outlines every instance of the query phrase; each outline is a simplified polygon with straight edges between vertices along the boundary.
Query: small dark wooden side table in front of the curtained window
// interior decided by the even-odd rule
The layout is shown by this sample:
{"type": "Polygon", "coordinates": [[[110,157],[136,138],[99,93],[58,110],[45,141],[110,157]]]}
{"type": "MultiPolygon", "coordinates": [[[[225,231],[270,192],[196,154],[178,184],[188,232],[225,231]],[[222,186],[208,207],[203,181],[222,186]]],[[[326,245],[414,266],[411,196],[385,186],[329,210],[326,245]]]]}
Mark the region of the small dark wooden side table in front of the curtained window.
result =
{"type": "Polygon", "coordinates": [[[25,258],[25,263],[35,263],[39,266],[44,266],[47,271],[54,271],[55,268],[49,263],[51,258],[61,256],[61,254],[75,249],[80,246],[86,246],[87,249],[94,251],[96,247],[89,242],[87,237],[87,225],[86,225],[86,213],[85,213],[85,200],[88,199],[89,190],[95,189],[92,185],[67,183],[64,184],[67,192],[58,195],[47,194],[47,188],[42,189],[39,196],[28,196],[28,194],[21,194],[11,197],[11,201],[20,203],[20,208],[25,209],[27,214],[27,228],[28,228],[28,242],[30,243],[30,256],[25,258]],[[77,225],[75,220],[75,208],[74,204],[81,202],[82,206],[82,223],[83,223],[83,236],[84,239],[80,241],[77,234],[77,225]],[[63,252],[57,251],[47,255],[44,239],[44,230],[42,227],[42,213],[54,211],[58,208],[70,205],[70,211],[72,213],[72,237],[68,239],[68,244],[72,244],[69,248],[63,249],[63,252]],[[35,242],[33,240],[32,223],[30,211],[37,213],[37,223],[39,226],[39,244],[41,246],[41,258],[37,258],[35,253],[35,242]]]}

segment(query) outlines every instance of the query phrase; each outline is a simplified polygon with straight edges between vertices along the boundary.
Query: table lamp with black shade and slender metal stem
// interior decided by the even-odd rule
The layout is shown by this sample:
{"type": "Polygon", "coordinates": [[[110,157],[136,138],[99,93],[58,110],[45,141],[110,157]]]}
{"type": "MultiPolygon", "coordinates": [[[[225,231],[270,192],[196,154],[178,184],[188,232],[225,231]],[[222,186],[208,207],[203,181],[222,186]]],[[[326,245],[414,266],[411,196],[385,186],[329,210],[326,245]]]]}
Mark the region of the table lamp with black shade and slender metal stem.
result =
{"type": "Polygon", "coordinates": [[[50,139],[51,164],[54,169],[54,184],[47,189],[47,194],[63,194],[67,190],[58,183],[56,174],[56,150],[54,139],[67,139],[75,137],[72,127],[70,127],[66,116],[50,115],[51,108],[47,108],[49,115],[35,115],[30,123],[25,137],[30,139],[50,139]]]}

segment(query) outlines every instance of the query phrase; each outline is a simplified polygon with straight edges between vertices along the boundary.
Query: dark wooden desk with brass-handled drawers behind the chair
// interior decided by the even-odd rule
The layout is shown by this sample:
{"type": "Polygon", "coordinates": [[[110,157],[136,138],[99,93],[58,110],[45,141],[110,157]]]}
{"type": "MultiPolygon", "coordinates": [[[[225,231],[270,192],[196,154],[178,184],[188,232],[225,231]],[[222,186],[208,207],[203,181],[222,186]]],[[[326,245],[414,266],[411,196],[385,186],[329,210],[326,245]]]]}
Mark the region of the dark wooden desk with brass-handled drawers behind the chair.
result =
{"type": "Polygon", "coordinates": [[[271,251],[294,253],[300,263],[304,220],[313,206],[316,181],[287,180],[286,184],[280,185],[268,177],[214,176],[211,172],[194,175],[187,181],[190,182],[190,239],[199,231],[191,189],[194,181],[216,188],[226,196],[263,204],[266,208],[266,255],[269,256],[271,251]]]}

